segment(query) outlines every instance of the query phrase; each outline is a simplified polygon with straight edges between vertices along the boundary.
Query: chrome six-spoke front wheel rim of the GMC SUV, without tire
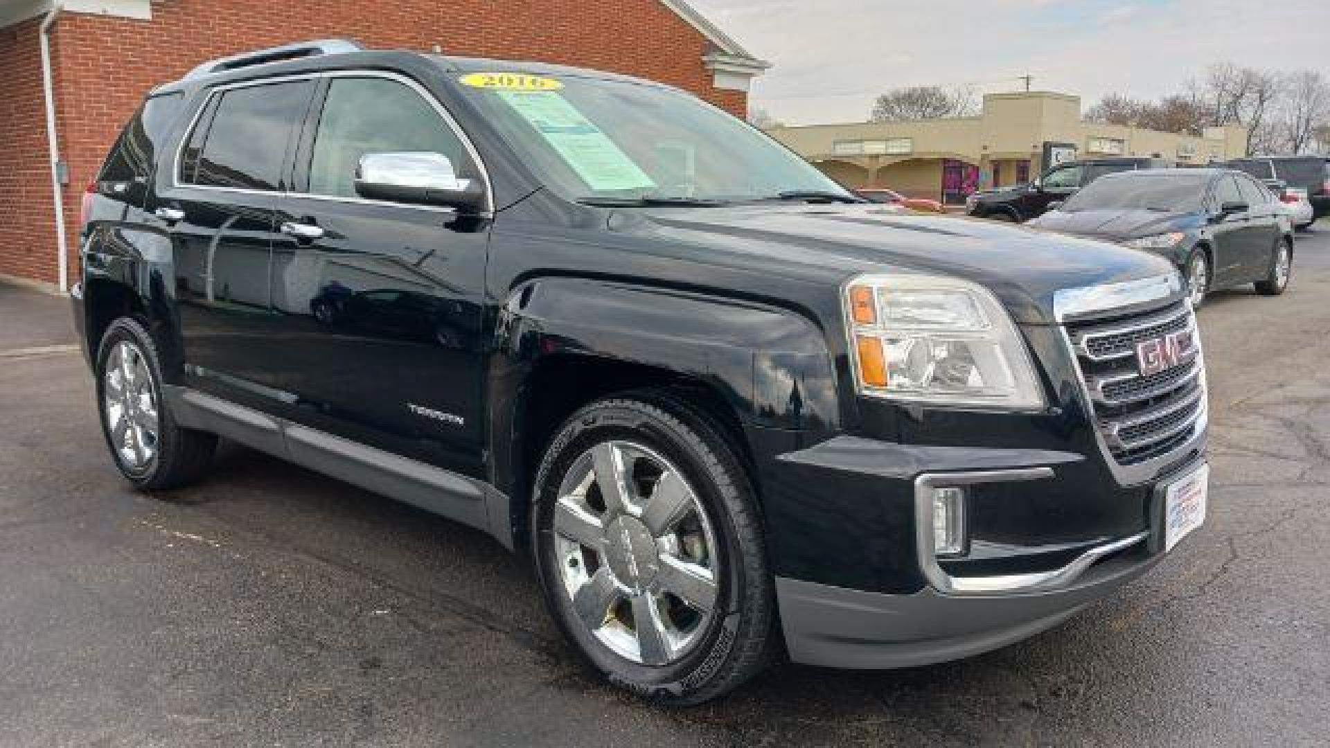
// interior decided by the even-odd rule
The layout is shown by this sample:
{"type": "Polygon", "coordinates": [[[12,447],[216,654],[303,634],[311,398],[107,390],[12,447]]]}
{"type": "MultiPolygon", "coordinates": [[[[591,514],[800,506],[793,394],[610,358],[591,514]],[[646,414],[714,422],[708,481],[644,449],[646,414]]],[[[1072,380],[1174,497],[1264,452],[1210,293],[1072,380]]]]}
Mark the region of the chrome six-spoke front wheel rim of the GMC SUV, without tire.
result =
{"type": "Polygon", "coordinates": [[[680,660],[717,604],[716,535],[684,474],[632,442],[583,453],[559,487],[555,554],[572,610],[645,665],[680,660]]]}

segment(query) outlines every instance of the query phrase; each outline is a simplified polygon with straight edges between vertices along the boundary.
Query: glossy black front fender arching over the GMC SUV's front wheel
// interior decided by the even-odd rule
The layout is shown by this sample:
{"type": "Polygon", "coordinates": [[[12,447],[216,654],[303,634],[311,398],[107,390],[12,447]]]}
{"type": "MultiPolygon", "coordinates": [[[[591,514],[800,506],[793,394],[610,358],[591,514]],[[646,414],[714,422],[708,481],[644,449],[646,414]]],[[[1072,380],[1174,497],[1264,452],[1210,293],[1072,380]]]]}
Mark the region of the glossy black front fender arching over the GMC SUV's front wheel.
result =
{"type": "Polygon", "coordinates": [[[596,399],[657,393],[721,433],[749,470],[758,459],[751,427],[822,430],[839,421],[822,333],[789,310],[579,278],[524,283],[503,310],[489,453],[515,544],[525,538],[545,445],[596,399]]]}

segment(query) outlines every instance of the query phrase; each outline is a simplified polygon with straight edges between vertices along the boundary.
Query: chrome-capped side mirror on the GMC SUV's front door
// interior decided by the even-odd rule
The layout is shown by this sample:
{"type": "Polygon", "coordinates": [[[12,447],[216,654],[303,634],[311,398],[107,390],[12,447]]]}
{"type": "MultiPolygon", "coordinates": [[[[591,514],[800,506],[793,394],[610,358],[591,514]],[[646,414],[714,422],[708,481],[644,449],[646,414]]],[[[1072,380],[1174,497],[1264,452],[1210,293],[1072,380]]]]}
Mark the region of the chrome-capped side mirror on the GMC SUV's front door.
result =
{"type": "Polygon", "coordinates": [[[462,213],[480,210],[485,190],[480,180],[458,177],[442,153],[366,153],[355,168],[355,192],[367,200],[444,205],[462,213]]]}

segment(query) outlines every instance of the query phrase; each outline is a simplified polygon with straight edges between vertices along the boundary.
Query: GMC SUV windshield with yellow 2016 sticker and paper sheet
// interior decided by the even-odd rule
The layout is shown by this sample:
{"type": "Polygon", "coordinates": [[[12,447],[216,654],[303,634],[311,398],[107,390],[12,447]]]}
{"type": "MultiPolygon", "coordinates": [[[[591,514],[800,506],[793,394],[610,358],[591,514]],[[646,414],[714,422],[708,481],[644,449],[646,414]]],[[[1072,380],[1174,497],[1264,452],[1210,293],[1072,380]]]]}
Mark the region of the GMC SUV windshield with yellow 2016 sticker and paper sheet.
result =
{"type": "Polygon", "coordinates": [[[460,83],[536,176],[571,200],[854,200],[757,129],[677,91],[513,73],[460,83]]]}

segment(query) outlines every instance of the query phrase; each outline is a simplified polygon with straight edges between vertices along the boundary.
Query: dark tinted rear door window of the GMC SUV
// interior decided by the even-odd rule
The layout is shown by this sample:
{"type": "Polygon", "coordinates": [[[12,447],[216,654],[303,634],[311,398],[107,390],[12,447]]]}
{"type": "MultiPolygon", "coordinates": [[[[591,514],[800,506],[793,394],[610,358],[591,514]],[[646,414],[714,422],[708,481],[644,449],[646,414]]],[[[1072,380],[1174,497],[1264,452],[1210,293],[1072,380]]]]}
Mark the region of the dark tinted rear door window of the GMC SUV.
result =
{"type": "Polygon", "coordinates": [[[282,166],[311,81],[253,85],[213,97],[190,136],[180,178],[200,186],[283,189],[282,166]]]}

